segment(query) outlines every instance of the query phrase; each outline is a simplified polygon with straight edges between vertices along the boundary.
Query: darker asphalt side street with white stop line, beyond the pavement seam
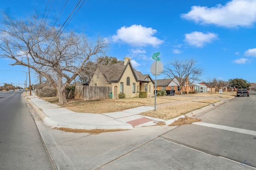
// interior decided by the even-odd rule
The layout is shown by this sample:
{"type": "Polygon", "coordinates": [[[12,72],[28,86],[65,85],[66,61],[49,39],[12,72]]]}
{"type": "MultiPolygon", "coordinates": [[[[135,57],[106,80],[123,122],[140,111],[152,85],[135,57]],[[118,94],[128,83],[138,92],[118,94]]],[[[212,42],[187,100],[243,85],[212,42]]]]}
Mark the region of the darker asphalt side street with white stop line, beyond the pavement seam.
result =
{"type": "Polygon", "coordinates": [[[256,93],[236,97],[161,137],[202,152],[256,167],[256,93]]]}

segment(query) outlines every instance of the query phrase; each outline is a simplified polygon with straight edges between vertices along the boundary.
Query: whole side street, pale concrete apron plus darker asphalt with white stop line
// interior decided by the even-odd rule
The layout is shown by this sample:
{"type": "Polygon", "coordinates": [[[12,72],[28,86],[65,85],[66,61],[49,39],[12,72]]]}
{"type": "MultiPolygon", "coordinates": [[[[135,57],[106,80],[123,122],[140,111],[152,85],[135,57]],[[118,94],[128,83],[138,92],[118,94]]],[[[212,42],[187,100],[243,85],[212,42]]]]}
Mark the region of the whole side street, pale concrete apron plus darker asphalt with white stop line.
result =
{"type": "Polygon", "coordinates": [[[179,127],[92,134],[59,131],[42,121],[36,124],[57,169],[252,170],[256,169],[255,102],[255,94],[234,98],[196,115],[201,124],[179,127]]]}

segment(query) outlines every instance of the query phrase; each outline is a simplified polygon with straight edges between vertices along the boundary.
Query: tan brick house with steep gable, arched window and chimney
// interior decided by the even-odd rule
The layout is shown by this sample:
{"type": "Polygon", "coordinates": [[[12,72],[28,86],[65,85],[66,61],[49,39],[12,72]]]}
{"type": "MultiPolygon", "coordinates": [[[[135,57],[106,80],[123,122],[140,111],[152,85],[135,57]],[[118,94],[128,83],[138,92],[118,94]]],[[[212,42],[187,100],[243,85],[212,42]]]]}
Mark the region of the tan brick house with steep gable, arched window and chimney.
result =
{"type": "Polygon", "coordinates": [[[126,98],[138,97],[140,91],[154,95],[154,81],[150,75],[135,71],[128,57],[121,63],[98,66],[89,86],[111,86],[113,98],[118,98],[121,92],[126,98]]]}

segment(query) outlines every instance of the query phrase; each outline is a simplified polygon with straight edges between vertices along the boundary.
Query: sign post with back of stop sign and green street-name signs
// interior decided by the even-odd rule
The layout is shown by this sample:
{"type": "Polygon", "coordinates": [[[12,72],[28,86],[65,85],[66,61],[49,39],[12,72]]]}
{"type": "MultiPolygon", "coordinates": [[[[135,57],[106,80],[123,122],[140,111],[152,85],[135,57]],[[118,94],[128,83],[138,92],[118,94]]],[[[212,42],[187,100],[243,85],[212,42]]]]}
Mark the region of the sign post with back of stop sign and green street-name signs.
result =
{"type": "Polygon", "coordinates": [[[150,66],[150,72],[155,76],[155,108],[154,111],[156,111],[156,76],[161,74],[161,72],[164,70],[164,64],[160,62],[160,57],[157,57],[160,55],[160,52],[154,53],[152,55],[152,59],[156,60],[154,63],[150,66]]]}

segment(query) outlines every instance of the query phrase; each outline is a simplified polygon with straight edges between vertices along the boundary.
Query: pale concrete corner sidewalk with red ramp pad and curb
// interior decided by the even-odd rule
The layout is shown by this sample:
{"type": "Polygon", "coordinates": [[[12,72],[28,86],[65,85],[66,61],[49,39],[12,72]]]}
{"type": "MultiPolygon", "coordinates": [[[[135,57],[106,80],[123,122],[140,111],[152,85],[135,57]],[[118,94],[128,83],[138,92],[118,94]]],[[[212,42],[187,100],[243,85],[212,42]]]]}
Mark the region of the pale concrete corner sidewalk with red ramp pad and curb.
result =
{"type": "MultiPolygon", "coordinates": [[[[176,117],[170,120],[157,119],[154,117],[147,117],[138,115],[139,113],[153,110],[154,106],[141,106],[133,109],[127,109],[124,111],[118,111],[114,113],[76,113],[70,111],[64,107],[60,107],[56,104],[50,104],[44,100],[39,99],[37,96],[26,96],[28,102],[36,109],[37,113],[40,114],[42,121],[50,127],[66,127],[71,129],[133,129],[133,127],[140,126],[152,126],[157,125],[157,121],[163,121],[166,125],[173,123],[180,117],[185,117],[184,115],[176,117]]],[[[156,108],[166,107],[170,105],[192,102],[198,100],[194,98],[191,100],[177,101],[166,104],[156,105],[156,108]]],[[[230,99],[226,99],[229,101],[230,99]]],[[[226,101],[221,101],[215,104],[215,106],[222,104],[226,101]]],[[[202,109],[193,111],[193,115],[211,109],[214,106],[206,106],[202,109]]],[[[191,113],[186,115],[192,116],[191,113]]]]}

